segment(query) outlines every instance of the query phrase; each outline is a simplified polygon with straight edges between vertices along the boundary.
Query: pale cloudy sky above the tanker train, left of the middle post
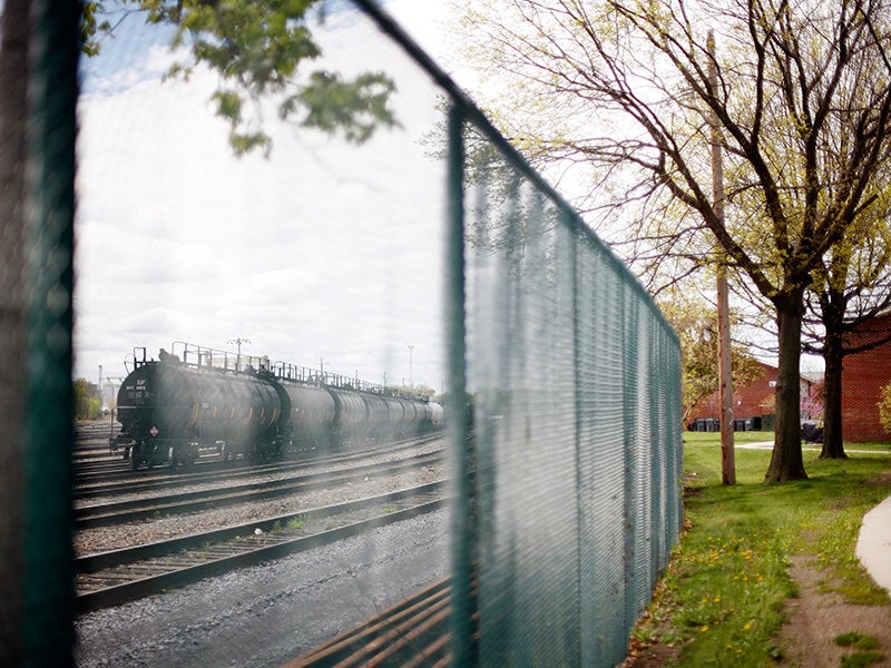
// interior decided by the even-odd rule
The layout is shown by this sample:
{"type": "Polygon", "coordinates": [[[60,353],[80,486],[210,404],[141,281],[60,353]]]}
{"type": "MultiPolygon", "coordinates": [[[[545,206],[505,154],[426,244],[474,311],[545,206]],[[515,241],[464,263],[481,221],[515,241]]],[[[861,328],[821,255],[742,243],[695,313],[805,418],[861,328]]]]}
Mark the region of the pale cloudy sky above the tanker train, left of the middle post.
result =
{"type": "MultiPolygon", "coordinates": [[[[386,7],[437,49],[435,0],[386,7]]],[[[425,75],[365,20],[329,17],[325,65],[392,76],[402,128],[354,147],[268,110],[271,158],[236,159],[215,76],[161,82],[169,32],[127,21],[82,73],[75,375],[124,376],[135,346],[241,337],[248,354],[440,390],[444,166],[420,141],[439,121],[425,75]]]]}

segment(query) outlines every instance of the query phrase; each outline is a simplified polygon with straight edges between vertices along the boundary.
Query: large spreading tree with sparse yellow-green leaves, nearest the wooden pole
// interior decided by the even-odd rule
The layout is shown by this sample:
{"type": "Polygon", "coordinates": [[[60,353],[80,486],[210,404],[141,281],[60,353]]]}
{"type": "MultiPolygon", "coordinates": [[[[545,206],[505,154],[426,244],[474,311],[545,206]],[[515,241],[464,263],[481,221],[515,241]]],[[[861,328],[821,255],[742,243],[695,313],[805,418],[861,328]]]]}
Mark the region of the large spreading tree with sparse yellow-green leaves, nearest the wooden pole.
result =
{"type": "Polygon", "coordinates": [[[779,371],[768,482],[806,478],[805,291],[830,248],[880,214],[890,10],[889,0],[479,0],[463,12],[476,61],[500,81],[490,106],[510,109],[496,118],[507,137],[539,163],[593,166],[593,200],[613,197],[617,218],[636,205],[679,212],[659,238],[709,234],[770,302],[779,371]],[[725,215],[712,190],[716,137],[725,215]]]}

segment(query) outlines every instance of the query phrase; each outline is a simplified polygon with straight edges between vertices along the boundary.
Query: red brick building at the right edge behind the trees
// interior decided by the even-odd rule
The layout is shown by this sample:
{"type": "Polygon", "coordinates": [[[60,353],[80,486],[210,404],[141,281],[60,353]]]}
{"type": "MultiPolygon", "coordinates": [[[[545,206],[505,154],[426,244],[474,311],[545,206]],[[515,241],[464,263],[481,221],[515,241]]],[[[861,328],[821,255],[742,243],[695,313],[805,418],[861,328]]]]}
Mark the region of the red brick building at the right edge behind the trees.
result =
{"type": "MultiPolygon", "coordinates": [[[[862,345],[888,336],[891,314],[873,318],[850,336],[851,345],[862,345]]],[[[845,441],[891,441],[879,423],[877,403],[882,387],[891,383],[891,343],[844,357],[842,372],[842,434],[845,441]]]]}

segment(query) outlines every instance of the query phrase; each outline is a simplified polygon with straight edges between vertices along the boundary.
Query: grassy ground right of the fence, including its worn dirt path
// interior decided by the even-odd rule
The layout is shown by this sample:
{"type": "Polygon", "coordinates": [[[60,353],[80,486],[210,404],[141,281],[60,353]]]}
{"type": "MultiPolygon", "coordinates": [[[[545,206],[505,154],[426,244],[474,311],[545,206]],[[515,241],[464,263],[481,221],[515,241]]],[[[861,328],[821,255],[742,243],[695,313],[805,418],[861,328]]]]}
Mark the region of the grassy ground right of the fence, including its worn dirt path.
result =
{"type": "Polygon", "coordinates": [[[772,434],[736,434],[737,484],[719,434],[686,432],[684,533],[626,668],[891,668],[891,599],[855,554],[863,515],[891,495],[891,445],[848,446],[809,480],[763,483],[772,434]]]}

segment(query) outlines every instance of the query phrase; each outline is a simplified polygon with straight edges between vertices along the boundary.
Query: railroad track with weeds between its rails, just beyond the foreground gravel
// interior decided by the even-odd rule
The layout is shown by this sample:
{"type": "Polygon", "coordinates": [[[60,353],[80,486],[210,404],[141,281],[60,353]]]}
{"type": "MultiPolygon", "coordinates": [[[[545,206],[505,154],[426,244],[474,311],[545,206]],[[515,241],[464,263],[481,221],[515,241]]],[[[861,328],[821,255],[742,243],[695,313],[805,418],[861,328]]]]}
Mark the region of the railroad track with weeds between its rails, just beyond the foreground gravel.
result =
{"type": "Polygon", "coordinates": [[[330,544],[432,512],[444,481],[75,560],[78,612],[118,606],[202,578],[330,544]]]}

